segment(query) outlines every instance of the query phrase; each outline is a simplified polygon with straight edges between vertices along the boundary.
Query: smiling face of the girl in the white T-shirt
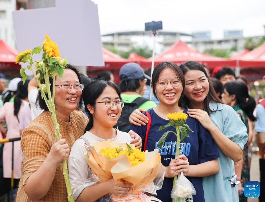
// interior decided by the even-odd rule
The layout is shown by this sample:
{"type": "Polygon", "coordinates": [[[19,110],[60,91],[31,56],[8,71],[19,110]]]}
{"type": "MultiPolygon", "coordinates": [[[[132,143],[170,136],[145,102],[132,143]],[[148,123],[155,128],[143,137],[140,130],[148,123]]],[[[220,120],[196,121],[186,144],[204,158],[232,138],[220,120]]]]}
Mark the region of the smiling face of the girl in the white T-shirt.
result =
{"type": "Polygon", "coordinates": [[[88,110],[93,116],[94,126],[100,124],[103,127],[105,126],[106,128],[112,128],[112,126],[115,126],[118,119],[120,118],[121,109],[117,108],[115,103],[112,108],[107,108],[105,105],[106,100],[120,100],[117,91],[110,86],[106,86],[102,94],[100,94],[100,96],[95,101],[102,103],[95,103],[94,107],[87,105],[88,110]]]}

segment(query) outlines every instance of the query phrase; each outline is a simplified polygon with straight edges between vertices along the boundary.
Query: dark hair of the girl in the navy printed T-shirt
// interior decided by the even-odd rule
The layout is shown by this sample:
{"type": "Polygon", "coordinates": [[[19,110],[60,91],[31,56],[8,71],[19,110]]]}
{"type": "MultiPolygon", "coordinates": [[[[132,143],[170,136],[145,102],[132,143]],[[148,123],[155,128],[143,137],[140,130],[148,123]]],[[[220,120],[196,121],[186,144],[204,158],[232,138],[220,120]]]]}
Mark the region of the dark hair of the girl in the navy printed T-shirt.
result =
{"type": "Polygon", "coordinates": [[[179,103],[181,103],[182,97],[184,95],[184,89],[185,89],[185,82],[184,82],[184,75],[182,73],[182,71],[180,70],[179,66],[176,65],[173,62],[162,62],[160,64],[158,64],[158,66],[155,67],[153,74],[152,74],[152,90],[153,90],[153,94],[155,96],[155,98],[158,100],[157,94],[155,92],[155,83],[157,83],[158,79],[159,79],[159,75],[161,73],[161,71],[165,68],[170,68],[173,71],[175,71],[177,77],[181,80],[181,84],[183,86],[183,90],[181,92],[180,95],[180,99],[179,99],[179,103]]]}

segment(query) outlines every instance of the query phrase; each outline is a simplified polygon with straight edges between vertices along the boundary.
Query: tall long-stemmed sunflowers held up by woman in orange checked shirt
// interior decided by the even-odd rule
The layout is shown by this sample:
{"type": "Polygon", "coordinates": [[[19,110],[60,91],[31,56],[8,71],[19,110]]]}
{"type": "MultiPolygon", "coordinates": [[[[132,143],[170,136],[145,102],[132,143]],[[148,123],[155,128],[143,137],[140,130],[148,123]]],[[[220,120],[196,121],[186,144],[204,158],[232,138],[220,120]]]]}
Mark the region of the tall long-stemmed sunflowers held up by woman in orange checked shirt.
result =
{"type": "MultiPolygon", "coordinates": [[[[47,108],[49,109],[52,121],[54,123],[55,128],[55,138],[56,140],[60,140],[60,131],[59,131],[59,124],[57,123],[56,113],[55,113],[55,104],[54,104],[54,97],[55,97],[55,77],[58,74],[59,77],[62,77],[64,73],[64,67],[67,65],[66,58],[61,59],[59,49],[57,48],[57,44],[55,44],[53,41],[50,40],[49,36],[45,35],[46,40],[43,42],[43,47],[37,46],[32,51],[30,49],[27,49],[21,53],[19,53],[16,56],[16,63],[26,63],[28,62],[29,65],[27,66],[28,69],[30,69],[34,75],[34,78],[37,81],[37,84],[39,86],[39,91],[41,91],[42,99],[44,99],[47,108]],[[35,61],[35,66],[37,68],[37,71],[39,71],[40,75],[39,78],[36,76],[36,72],[32,68],[32,64],[34,64],[32,60],[33,54],[39,54],[41,51],[43,51],[42,54],[42,60],[35,61]],[[52,93],[50,89],[50,78],[53,80],[53,86],[52,86],[52,93]],[[40,83],[40,81],[44,78],[44,83],[40,83]]],[[[27,75],[25,74],[24,68],[20,69],[20,74],[22,76],[22,81],[25,82],[27,79],[27,75]]],[[[66,183],[67,188],[67,198],[69,202],[73,202],[73,191],[70,185],[69,176],[68,176],[68,169],[67,169],[67,163],[64,160],[62,162],[63,167],[63,173],[64,173],[64,180],[66,183]]]]}

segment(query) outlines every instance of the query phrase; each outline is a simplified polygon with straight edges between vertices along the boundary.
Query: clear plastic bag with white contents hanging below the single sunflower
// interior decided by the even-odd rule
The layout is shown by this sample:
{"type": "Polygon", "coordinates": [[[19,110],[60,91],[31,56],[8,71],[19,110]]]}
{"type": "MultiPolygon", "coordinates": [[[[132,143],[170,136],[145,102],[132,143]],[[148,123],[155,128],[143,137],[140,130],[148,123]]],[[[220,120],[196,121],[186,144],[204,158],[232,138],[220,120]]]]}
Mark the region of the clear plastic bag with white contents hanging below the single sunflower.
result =
{"type": "Polygon", "coordinates": [[[183,173],[180,173],[171,191],[171,198],[186,198],[195,194],[196,191],[192,183],[184,176],[183,173]]]}

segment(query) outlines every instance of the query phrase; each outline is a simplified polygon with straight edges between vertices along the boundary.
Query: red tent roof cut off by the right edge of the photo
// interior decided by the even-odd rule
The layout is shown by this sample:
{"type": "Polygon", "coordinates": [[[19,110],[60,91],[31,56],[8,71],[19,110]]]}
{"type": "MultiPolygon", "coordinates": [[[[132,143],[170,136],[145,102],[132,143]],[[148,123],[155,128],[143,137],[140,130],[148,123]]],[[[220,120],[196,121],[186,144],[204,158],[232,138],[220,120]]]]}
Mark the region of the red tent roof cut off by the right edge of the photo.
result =
{"type": "Polygon", "coordinates": [[[265,67],[265,43],[239,58],[240,67],[265,67]]]}

